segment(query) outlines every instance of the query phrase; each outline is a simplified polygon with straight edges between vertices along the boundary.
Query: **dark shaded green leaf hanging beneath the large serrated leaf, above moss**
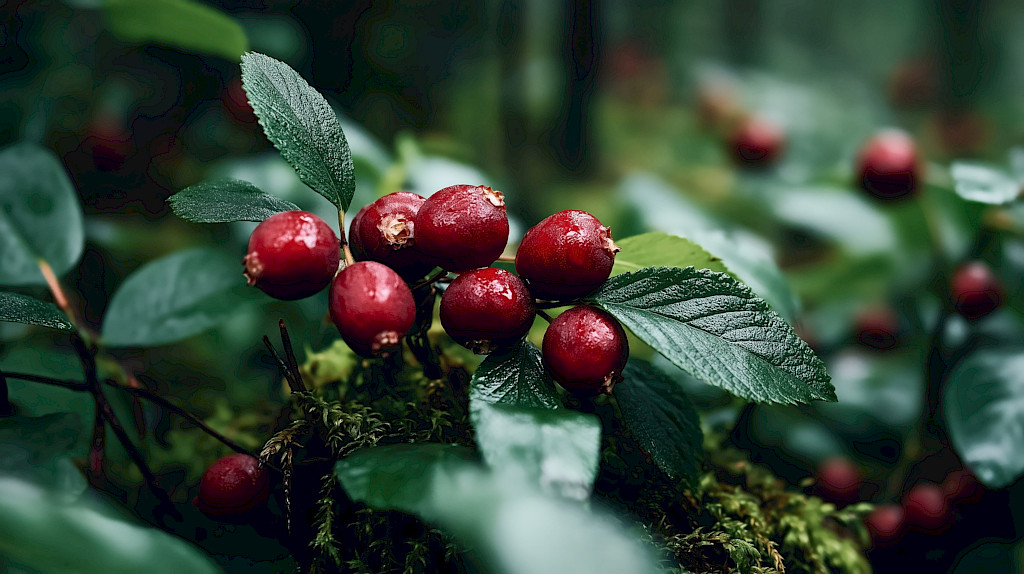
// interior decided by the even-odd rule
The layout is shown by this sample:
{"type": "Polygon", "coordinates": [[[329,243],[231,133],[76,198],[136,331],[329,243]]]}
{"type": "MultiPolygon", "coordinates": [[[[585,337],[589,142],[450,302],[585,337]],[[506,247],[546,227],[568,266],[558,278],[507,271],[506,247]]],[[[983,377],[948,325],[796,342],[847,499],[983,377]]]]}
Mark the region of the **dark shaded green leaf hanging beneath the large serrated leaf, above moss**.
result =
{"type": "Polygon", "coordinates": [[[630,359],[614,395],[623,422],[657,468],[695,487],[703,465],[703,433],[679,383],[646,361],[630,359]]]}

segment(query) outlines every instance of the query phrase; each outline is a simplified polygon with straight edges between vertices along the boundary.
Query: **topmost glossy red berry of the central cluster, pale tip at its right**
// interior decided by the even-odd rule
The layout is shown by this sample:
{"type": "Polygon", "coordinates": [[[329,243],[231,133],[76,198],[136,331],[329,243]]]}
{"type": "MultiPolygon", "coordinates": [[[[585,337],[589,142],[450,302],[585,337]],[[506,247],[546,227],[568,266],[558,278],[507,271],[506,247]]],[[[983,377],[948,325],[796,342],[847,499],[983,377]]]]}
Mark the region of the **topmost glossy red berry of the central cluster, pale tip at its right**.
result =
{"type": "Polygon", "coordinates": [[[440,189],[423,202],[413,221],[413,249],[449,271],[490,265],[509,240],[505,195],[485,185],[440,189]]]}

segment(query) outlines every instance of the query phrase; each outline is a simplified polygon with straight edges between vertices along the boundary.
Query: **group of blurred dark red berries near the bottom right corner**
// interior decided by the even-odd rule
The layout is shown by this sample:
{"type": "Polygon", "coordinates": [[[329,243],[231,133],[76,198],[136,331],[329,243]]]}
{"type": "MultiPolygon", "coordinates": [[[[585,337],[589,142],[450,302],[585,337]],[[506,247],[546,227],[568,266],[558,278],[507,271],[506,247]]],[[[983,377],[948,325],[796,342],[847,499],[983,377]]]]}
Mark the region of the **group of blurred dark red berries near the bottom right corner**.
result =
{"type": "MultiPolygon", "coordinates": [[[[815,492],[829,502],[848,504],[860,499],[864,481],[860,469],[845,457],[826,460],[818,470],[815,492]]],[[[978,502],[984,489],[970,471],[949,473],[941,485],[919,482],[903,495],[902,503],[880,504],[864,519],[871,545],[885,547],[899,541],[907,530],[938,534],[948,529],[956,505],[978,502]]]]}

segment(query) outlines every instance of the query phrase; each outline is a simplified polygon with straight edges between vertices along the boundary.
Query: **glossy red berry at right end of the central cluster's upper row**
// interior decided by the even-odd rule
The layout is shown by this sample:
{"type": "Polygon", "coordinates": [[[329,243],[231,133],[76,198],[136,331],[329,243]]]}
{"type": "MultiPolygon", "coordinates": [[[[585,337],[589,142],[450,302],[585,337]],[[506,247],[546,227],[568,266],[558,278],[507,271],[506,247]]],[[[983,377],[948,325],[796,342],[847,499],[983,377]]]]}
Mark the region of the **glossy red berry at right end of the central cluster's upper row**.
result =
{"type": "Polygon", "coordinates": [[[526,231],[515,269],[538,299],[573,299],[608,278],[618,251],[610,230],[596,217],[561,211],[526,231]]]}

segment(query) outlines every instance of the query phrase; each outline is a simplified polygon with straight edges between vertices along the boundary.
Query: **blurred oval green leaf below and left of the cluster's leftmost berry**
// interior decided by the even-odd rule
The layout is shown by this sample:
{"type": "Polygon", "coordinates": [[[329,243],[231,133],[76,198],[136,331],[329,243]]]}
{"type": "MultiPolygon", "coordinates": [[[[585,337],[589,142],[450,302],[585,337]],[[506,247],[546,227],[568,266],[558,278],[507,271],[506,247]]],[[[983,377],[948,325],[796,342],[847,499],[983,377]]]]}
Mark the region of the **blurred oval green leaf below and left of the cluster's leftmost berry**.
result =
{"type": "Polygon", "coordinates": [[[198,248],[138,269],[111,299],[102,339],[114,347],[150,347],[202,333],[244,303],[241,266],[222,252],[198,248]]]}

